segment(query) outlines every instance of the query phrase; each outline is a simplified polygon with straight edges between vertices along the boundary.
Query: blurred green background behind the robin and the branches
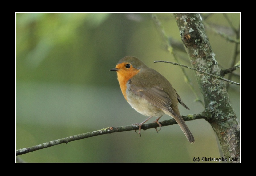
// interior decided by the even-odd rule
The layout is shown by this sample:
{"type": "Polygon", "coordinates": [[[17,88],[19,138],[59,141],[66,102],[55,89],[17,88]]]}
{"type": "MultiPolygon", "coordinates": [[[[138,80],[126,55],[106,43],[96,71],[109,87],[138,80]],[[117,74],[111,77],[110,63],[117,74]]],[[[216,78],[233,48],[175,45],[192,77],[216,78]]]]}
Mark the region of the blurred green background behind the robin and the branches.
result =
{"type": "MultiPolygon", "coordinates": [[[[150,13],[17,13],[16,14],[16,149],[95,131],[108,126],[131,125],[147,117],[124,99],[116,73],[110,72],[122,57],[140,58],[164,75],[190,111],[204,107],[196,99],[150,13]]],[[[156,14],[166,34],[181,43],[172,14],[156,14]]],[[[208,14],[202,14],[202,16],[208,14]]],[[[227,14],[238,28],[240,14],[227,14]]],[[[206,20],[235,38],[223,14],[206,20]]],[[[207,29],[218,63],[229,68],[234,43],[207,29]]],[[[191,66],[186,53],[176,51],[181,64],[191,66]]],[[[236,62],[239,61],[239,57],[236,62]]],[[[194,72],[185,69],[200,95],[194,72]]],[[[240,69],[235,71],[240,74],[240,69]]],[[[232,77],[240,82],[240,77],[232,77]]],[[[240,87],[230,85],[230,100],[240,119],[240,87]]],[[[202,98],[202,97],[201,97],[202,98]]],[[[165,115],[161,120],[170,119],[165,115]]],[[[150,122],[154,121],[150,120],[150,122]]],[[[160,121],[161,121],[160,120],[160,121]]],[[[186,122],[195,137],[190,144],[178,125],[101,135],[60,144],[19,156],[25,162],[193,162],[193,157],[219,158],[218,142],[205,120],[186,122]]]]}

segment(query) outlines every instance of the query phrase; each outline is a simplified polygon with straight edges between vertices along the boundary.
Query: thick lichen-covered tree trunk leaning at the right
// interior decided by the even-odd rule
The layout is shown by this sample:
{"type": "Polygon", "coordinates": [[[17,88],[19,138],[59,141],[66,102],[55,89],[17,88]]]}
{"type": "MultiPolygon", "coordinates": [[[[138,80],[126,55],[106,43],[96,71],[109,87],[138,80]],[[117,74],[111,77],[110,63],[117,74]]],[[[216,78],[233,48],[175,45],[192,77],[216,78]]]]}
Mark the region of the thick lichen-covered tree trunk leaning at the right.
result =
{"type": "MultiPolygon", "coordinates": [[[[221,76],[204,25],[198,13],[175,13],[181,39],[194,68],[221,76]]],[[[240,124],[224,81],[195,72],[204,97],[206,120],[215,131],[227,161],[240,162],[240,124]]]]}

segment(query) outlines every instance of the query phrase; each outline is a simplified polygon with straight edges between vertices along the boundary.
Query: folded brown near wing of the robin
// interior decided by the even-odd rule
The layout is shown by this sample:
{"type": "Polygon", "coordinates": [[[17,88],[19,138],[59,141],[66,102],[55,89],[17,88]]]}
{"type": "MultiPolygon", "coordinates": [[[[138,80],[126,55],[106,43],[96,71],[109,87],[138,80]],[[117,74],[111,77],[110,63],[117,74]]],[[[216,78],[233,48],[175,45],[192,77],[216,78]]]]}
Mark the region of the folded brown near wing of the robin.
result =
{"type": "Polygon", "coordinates": [[[140,88],[134,84],[130,86],[131,91],[147,100],[149,103],[155,105],[156,107],[163,109],[164,111],[170,112],[173,116],[177,117],[177,114],[172,110],[172,101],[168,94],[164,92],[163,88],[160,86],[155,86],[151,88],[140,88]]]}

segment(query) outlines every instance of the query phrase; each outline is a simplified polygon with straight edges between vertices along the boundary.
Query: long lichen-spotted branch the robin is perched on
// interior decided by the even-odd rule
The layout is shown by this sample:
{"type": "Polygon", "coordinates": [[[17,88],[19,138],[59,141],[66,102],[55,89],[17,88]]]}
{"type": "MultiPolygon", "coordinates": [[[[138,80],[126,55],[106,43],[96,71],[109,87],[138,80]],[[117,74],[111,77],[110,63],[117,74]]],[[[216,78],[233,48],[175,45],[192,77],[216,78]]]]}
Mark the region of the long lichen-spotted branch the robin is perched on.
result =
{"type": "MultiPolygon", "coordinates": [[[[183,116],[184,121],[196,120],[196,119],[202,119],[202,118],[205,118],[204,113],[183,116]]],[[[162,126],[169,126],[169,125],[177,124],[177,122],[174,119],[164,120],[159,123],[162,126]]],[[[159,127],[159,125],[157,123],[148,123],[148,124],[143,124],[141,129],[147,130],[150,128],[157,128],[157,127],[159,127]]],[[[55,146],[55,145],[62,144],[62,143],[67,144],[68,142],[75,141],[75,140],[85,139],[85,138],[99,136],[99,135],[103,135],[103,134],[110,134],[110,133],[114,133],[114,132],[125,132],[125,131],[132,131],[132,130],[139,130],[139,127],[136,125],[107,127],[107,128],[103,128],[101,130],[93,131],[93,132],[87,132],[87,133],[78,134],[75,136],[69,136],[69,137],[62,138],[62,139],[52,140],[50,142],[39,144],[39,145],[36,145],[33,147],[21,148],[19,150],[16,150],[16,156],[26,154],[29,152],[33,152],[36,150],[40,150],[43,148],[48,148],[48,147],[55,146]]]]}

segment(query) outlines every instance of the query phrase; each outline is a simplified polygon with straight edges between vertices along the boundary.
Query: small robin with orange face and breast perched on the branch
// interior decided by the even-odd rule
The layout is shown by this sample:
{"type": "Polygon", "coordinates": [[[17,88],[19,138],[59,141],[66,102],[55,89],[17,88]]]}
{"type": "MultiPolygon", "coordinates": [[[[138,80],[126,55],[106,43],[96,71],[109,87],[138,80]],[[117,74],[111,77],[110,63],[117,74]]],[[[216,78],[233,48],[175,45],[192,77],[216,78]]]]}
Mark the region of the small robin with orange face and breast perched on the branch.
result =
{"type": "MultiPolygon", "coordinates": [[[[154,122],[159,125],[159,130],[161,130],[162,125],[158,121],[161,116],[167,114],[176,120],[188,141],[190,143],[195,142],[192,133],[180,115],[178,103],[186,109],[188,107],[163,75],[147,67],[133,56],[122,58],[117,63],[116,68],[110,71],[117,72],[121,91],[132,108],[144,116],[149,116],[142,123],[135,124],[139,126],[139,134],[141,126],[153,116],[157,117],[154,122]]],[[[157,132],[159,130],[156,129],[157,132]]]]}

